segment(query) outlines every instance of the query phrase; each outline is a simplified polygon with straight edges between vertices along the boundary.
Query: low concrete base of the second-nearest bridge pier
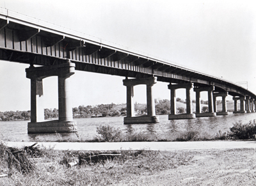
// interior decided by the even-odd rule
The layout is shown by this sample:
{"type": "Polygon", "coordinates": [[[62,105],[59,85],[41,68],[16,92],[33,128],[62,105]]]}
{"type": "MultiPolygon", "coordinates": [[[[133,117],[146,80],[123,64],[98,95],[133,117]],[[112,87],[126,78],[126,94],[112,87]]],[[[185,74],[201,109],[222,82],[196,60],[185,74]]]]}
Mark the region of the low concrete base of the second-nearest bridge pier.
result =
{"type": "Polygon", "coordinates": [[[125,117],[124,124],[159,123],[159,116],[125,117]]]}

